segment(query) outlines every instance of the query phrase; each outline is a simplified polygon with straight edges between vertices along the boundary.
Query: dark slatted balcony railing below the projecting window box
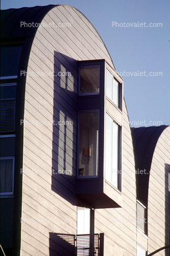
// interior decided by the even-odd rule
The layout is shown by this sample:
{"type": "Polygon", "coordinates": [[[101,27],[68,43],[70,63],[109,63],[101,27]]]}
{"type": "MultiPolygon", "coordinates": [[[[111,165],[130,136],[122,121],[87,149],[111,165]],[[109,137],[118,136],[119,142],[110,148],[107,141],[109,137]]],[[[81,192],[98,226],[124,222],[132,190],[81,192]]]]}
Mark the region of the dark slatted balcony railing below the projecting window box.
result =
{"type": "Polygon", "coordinates": [[[99,234],[77,235],[77,256],[99,256],[99,234]]]}

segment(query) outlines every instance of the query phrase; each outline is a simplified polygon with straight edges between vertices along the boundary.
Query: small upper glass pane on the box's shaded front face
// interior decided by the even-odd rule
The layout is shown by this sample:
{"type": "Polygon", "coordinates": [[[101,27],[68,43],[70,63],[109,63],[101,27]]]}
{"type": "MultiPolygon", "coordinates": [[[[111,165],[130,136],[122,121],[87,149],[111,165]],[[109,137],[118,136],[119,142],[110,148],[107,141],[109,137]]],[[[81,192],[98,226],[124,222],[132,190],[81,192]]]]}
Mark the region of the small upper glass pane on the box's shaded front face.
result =
{"type": "Polygon", "coordinates": [[[99,67],[80,69],[80,94],[99,92],[99,67]]]}

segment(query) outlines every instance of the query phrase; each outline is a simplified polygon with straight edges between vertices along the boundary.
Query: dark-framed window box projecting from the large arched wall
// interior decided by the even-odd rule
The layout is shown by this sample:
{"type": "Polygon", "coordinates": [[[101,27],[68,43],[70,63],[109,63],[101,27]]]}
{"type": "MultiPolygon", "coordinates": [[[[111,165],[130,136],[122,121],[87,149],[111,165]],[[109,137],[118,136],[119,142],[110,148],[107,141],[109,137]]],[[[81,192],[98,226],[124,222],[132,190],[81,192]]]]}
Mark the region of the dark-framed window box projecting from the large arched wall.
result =
{"type": "Polygon", "coordinates": [[[96,209],[122,204],[122,86],[104,59],[79,61],[77,196],[96,209]]]}

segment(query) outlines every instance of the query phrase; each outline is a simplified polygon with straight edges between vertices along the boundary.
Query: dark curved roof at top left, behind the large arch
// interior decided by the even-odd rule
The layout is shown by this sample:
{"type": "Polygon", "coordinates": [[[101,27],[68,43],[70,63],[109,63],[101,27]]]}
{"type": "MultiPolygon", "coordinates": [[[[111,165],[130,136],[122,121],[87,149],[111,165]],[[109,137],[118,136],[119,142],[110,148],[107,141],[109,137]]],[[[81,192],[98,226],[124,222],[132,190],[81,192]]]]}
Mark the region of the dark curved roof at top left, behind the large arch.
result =
{"type": "Polygon", "coordinates": [[[37,27],[27,27],[26,24],[41,23],[46,13],[54,7],[49,5],[1,10],[1,38],[34,36],[37,27]]]}

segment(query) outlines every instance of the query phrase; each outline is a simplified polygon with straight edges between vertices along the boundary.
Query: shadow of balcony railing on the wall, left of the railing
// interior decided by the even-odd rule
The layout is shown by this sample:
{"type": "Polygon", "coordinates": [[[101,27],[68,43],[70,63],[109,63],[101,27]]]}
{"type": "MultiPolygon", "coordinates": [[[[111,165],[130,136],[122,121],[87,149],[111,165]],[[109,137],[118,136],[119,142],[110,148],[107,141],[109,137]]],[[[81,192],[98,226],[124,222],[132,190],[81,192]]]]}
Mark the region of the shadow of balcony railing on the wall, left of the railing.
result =
{"type": "Polygon", "coordinates": [[[75,256],[75,241],[76,235],[49,233],[49,255],[75,256]]]}

